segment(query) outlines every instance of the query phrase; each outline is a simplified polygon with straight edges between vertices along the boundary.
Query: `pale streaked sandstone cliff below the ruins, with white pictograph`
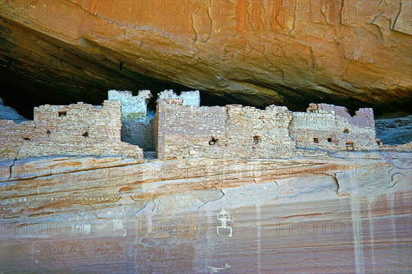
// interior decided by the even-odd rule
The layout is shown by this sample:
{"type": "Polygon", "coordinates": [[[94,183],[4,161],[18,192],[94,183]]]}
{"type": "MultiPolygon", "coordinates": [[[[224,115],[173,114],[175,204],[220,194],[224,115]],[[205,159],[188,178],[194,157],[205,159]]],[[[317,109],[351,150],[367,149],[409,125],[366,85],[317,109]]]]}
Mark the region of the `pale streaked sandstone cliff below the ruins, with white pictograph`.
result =
{"type": "Polygon", "coordinates": [[[335,156],[3,162],[0,270],[410,273],[411,153],[335,156]]]}

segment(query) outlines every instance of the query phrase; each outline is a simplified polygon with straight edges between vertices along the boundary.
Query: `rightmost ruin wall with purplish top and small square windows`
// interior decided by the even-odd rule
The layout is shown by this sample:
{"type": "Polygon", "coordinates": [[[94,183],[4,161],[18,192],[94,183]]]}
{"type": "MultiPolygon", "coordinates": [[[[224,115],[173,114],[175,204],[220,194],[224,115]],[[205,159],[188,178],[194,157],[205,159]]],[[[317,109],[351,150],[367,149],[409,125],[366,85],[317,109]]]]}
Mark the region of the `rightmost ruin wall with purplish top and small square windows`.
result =
{"type": "Polygon", "coordinates": [[[361,108],[350,116],[346,108],[310,104],[306,112],[293,112],[290,136],[301,149],[373,151],[376,142],[374,112],[361,108]]]}

